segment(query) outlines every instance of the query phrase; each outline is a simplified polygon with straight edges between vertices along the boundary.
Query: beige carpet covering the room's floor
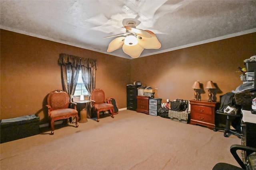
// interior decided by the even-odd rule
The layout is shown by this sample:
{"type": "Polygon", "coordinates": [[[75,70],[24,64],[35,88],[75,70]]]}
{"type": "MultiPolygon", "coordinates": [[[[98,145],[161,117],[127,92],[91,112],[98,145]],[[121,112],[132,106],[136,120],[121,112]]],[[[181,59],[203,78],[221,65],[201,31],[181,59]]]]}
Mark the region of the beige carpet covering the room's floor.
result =
{"type": "Polygon", "coordinates": [[[86,123],[40,128],[32,137],[0,144],[1,170],[211,170],[238,166],[230,154],[234,135],[123,110],[86,123]]]}

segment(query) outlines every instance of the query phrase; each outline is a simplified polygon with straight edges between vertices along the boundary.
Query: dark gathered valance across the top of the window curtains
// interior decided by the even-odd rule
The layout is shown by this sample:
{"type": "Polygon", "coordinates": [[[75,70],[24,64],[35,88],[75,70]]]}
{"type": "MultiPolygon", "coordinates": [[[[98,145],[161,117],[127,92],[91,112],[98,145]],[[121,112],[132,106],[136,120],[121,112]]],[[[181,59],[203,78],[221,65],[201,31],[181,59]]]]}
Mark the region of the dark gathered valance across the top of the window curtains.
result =
{"type": "Polygon", "coordinates": [[[85,66],[86,68],[97,69],[96,60],[85,59],[74,55],[60,54],[58,63],[60,64],[71,64],[72,67],[85,66]]]}

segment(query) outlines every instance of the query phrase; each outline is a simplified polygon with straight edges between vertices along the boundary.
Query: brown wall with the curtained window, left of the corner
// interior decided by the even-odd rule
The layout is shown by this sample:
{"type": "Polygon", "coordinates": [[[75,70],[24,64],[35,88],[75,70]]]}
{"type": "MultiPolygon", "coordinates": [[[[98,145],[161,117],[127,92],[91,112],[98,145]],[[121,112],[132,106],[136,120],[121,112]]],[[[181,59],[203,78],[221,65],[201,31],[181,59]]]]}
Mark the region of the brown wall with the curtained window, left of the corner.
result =
{"type": "Polygon", "coordinates": [[[47,121],[49,92],[62,89],[60,53],[96,59],[96,88],[126,107],[130,60],[1,29],[1,119],[38,114],[47,121]]]}

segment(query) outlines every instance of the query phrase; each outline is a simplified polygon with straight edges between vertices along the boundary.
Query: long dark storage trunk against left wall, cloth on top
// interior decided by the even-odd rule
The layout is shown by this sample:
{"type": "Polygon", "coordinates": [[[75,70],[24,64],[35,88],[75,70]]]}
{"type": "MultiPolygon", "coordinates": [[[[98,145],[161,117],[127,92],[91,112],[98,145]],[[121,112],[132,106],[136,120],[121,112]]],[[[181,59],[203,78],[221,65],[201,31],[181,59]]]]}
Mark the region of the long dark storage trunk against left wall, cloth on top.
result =
{"type": "Polygon", "coordinates": [[[27,115],[3,119],[0,123],[0,143],[39,134],[39,116],[27,115]]]}

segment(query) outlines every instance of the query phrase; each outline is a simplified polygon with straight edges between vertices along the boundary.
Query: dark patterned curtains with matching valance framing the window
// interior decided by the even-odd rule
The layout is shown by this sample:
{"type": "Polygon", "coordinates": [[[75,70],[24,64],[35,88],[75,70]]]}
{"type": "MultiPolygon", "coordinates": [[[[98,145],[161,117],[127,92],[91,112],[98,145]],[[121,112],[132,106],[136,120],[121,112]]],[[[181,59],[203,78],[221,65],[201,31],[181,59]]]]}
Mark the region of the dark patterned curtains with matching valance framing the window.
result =
{"type": "MultiPolygon", "coordinates": [[[[82,80],[86,90],[91,94],[95,89],[96,60],[84,59],[68,54],[60,54],[58,63],[62,65],[62,86],[68,92],[70,100],[74,98],[74,92],[78,80],[79,70],[82,70],[82,80]]],[[[90,98],[89,98],[90,99],[90,98]]]]}

